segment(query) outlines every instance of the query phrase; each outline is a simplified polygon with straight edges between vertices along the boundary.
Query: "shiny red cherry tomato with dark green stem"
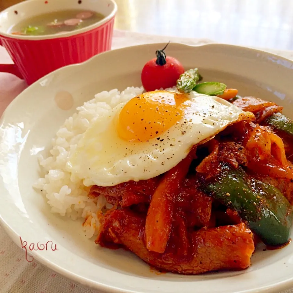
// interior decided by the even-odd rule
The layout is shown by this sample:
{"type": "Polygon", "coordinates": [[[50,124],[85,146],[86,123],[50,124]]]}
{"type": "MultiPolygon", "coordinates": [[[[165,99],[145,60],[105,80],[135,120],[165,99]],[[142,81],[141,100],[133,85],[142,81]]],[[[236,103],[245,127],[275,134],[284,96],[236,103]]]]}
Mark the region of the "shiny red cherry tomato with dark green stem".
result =
{"type": "Polygon", "coordinates": [[[175,86],[180,74],[184,73],[184,68],[177,59],[166,57],[164,50],[167,45],[156,52],[157,58],[148,61],[143,67],[141,82],[147,92],[175,86]]]}

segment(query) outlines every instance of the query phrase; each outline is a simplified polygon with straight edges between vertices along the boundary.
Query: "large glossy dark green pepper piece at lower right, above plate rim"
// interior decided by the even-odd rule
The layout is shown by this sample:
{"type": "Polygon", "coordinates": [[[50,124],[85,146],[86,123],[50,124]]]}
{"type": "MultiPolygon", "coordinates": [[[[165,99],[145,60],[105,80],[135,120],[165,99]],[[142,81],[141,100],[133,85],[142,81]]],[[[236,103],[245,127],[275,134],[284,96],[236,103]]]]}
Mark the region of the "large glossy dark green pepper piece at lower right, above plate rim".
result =
{"type": "Polygon", "coordinates": [[[241,167],[233,170],[222,165],[217,181],[205,191],[236,210],[266,245],[280,246],[289,241],[293,212],[277,188],[249,178],[241,167]]]}

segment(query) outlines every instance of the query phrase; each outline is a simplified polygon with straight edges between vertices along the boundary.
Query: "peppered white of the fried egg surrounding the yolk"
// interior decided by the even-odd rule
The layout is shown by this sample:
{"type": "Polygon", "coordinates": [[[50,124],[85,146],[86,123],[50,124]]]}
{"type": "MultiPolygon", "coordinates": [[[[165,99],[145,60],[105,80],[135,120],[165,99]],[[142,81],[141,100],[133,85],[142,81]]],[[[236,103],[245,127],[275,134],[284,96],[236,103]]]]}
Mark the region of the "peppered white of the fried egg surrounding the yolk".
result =
{"type": "Polygon", "coordinates": [[[232,123],[254,118],[219,97],[191,92],[177,124],[148,142],[128,142],[116,130],[125,104],[98,117],[84,133],[69,160],[71,180],[83,180],[85,186],[114,186],[156,177],[183,160],[192,146],[212,139],[232,123]]]}

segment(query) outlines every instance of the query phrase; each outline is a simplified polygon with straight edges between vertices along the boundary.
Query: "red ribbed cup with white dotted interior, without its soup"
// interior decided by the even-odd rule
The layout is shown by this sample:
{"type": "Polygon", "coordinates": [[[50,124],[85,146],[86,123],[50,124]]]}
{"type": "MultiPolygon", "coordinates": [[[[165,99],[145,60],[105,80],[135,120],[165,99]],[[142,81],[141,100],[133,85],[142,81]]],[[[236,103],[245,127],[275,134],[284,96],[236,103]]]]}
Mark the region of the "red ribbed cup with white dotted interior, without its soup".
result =
{"type": "Polygon", "coordinates": [[[5,9],[0,13],[0,44],[14,64],[0,64],[0,72],[15,74],[30,85],[60,67],[110,50],[116,12],[113,0],[26,0],[5,9]],[[68,9],[94,11],[105,17],[88,27],[58,34],[13,34],[13,26],[23,20],[68,9]]]}

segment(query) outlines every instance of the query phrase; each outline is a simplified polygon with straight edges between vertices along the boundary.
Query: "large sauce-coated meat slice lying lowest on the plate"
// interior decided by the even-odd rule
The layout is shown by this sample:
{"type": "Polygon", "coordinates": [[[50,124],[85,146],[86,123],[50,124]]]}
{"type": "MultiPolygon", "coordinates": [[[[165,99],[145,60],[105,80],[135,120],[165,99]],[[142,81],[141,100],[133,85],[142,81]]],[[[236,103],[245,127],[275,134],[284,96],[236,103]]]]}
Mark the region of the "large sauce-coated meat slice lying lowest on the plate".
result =
{"type": "Polygon", "coordinates": [[[157,269],[200,274],[219,269],[245,269],[254,251],[253,234],[244,223],[190,231],[177,215],[164,253],[150,252],[144,242],[145,217],[128,209],[114,210],[104,219],[96,243],[117,244],[157,269]]]}

